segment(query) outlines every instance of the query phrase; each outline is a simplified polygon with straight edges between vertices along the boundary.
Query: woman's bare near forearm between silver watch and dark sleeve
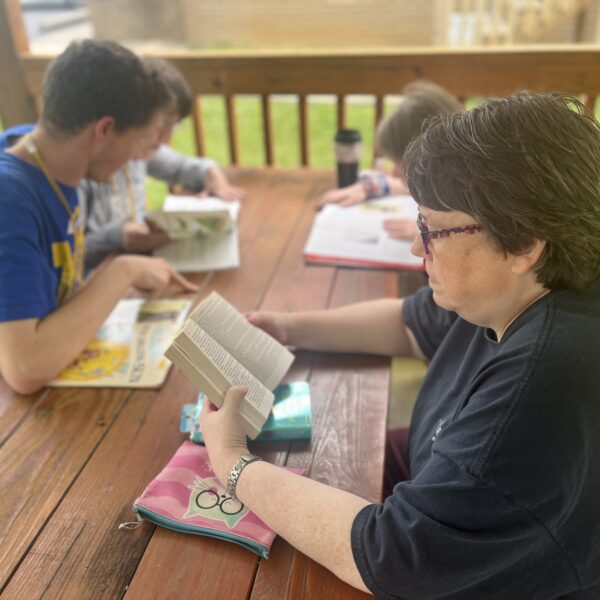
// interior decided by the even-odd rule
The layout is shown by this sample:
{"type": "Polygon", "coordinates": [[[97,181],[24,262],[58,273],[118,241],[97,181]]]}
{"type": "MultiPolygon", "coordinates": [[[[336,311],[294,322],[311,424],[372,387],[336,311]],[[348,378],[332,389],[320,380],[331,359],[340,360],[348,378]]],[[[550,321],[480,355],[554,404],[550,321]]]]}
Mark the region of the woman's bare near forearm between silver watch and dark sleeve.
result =
{"type": "Polygon", "coordinates": [[[352,523],[370,504],[367,500],[263,461],[242,471],[236,495],[292,546],[346,583],[368,591],[350,542],[352,523]]]}

